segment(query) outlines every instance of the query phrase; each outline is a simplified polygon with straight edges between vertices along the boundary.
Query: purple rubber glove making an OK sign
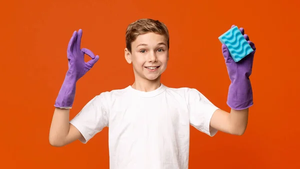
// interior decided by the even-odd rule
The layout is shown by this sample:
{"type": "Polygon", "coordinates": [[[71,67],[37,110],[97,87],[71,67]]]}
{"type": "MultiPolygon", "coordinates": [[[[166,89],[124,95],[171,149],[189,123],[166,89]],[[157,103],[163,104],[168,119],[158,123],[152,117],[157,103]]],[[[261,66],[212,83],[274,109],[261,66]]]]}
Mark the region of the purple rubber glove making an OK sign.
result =
{"type": "Polygon", "coordinates": [[[68,70],[66,72],[64,81],[59,90],[58,96],[55,100],[55,107],[71,108],[74,97],[76,82],[98,61],[99,56],[85,48],[80,50],[82,30],[78,33],[74,31],[67,47],[68,70]],[[91,60],[84,62],[84,54],[91,57],[91,60]]]}

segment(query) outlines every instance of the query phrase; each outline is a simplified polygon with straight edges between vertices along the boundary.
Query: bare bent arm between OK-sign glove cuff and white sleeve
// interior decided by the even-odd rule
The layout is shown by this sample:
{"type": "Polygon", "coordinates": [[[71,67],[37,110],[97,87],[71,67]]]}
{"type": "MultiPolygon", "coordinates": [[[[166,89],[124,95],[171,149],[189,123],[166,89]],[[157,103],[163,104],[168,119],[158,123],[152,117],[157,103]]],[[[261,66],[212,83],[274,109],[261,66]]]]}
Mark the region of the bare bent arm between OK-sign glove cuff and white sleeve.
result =
{"type": "Polygon", "coordinates": [[[64,146],[77,139],[84,139],[79,130],[69,123],[69,109],[55,107],[49,132],[52,146],[64,146]]]}

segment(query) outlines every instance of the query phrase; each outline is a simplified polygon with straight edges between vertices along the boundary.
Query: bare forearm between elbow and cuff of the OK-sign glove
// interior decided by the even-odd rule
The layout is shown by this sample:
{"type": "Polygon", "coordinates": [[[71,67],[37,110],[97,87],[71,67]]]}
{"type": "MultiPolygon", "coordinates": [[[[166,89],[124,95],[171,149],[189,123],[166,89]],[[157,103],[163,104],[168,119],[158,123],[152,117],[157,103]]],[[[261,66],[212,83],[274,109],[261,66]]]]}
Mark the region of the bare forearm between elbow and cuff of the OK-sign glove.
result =
{"type": "Polygon", "coordinates": [[[50,144],[55,146],[64,144],[69,128],[69,109],[55,107],[49,132],[50,144]]]}

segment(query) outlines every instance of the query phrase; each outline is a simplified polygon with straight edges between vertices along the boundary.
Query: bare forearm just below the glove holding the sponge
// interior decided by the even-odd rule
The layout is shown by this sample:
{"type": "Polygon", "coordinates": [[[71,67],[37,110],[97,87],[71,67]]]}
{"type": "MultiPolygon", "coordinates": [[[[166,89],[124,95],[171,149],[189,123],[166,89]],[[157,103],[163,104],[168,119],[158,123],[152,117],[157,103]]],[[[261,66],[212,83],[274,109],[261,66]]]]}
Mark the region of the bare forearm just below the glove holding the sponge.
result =
{"type": "Polygon", "coordinates": [[[231,109],[230,124],[232,133],[235,135],[242,135],[247,127],[249,108],[242,110],[231,109]]]}

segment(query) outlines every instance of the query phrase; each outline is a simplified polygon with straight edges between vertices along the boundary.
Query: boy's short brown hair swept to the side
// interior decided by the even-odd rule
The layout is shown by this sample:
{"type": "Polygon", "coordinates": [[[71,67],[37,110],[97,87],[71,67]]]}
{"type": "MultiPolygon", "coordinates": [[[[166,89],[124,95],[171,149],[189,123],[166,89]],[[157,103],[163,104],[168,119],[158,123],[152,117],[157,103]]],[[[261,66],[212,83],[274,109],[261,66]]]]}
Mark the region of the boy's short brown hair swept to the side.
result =
{"type": "Polygon", "coordinates": [[[169,49],[169,33],[167,27],[158,20],[139,19],[127,27],[125,34],[127,50],[131,53],[131,43],[135,41],[138,35],[149,32],[163,35],[166,38],[167,48],[169,49]]]}

